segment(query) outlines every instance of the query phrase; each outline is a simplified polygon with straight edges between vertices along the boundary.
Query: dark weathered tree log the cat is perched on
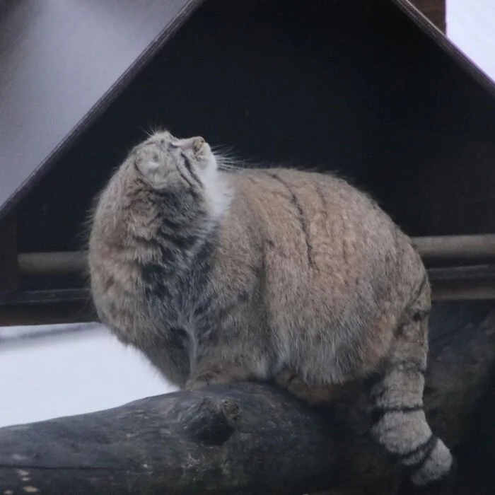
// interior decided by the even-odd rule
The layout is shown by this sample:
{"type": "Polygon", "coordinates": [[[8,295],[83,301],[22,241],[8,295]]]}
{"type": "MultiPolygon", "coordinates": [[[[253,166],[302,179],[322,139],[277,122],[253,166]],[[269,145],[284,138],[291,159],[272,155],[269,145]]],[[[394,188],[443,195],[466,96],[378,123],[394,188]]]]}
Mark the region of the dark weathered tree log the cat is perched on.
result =
{"type": "MultiPolygon", "coordinates": [[[[474,413],[493,375],[494,330],[493,303],[434,307],[426,412],[460,455],[461,472],[462,446],[484,421],[474,413]]],[[[395,468],[369,436],[365,403],[363,384],[310,408],[272,385],[236,383],[8,426],[0,429],[0,494],[301,495],[383,487],[395,468]]]]}

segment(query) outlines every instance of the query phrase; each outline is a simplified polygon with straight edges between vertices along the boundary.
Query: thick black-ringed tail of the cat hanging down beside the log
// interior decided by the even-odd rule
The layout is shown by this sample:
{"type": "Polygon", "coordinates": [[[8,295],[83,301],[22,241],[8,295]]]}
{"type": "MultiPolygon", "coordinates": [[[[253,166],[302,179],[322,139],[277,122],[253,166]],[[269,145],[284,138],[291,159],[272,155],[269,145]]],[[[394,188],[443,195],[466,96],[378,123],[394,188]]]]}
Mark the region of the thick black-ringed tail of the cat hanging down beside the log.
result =
{"type": "Polygon", "coordinates": [[[431,289],[424,271],[395,332],[387,362],[370,390],[373,436],[420,489],[450,482],[453,467],[450,450],[432,433],[423,409],[430,308],[431,289]]]}

